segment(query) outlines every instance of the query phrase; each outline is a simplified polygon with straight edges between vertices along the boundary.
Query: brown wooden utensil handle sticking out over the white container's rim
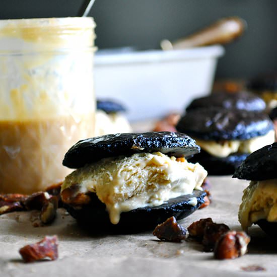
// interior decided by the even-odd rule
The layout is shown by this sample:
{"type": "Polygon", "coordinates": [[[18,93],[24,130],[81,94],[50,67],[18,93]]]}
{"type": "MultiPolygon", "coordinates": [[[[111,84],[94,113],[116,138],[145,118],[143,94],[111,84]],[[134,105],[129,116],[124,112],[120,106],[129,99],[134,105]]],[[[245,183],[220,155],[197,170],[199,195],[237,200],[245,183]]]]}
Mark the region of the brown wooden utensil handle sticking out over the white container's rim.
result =
{"type": "Polygon", "coordinates": [[[170,42],[163,40],[164,50],[184,49],[211,44],[225,44],[241,36],[246,29],[246,22],[239,17],[224,18],[186,38],[170,42]]]}

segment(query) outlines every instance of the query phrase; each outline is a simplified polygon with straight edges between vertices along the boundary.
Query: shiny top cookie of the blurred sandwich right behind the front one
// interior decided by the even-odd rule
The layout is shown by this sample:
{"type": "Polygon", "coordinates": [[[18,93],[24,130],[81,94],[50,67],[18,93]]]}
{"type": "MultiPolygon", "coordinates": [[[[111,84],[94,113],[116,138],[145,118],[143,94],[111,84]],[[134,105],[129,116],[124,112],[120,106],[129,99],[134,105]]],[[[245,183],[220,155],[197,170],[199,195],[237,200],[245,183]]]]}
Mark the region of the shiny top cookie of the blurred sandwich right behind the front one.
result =
{"type": "Polygon", "coordinates": [[[176,129],[200,140],[249,140],[265,135],[273,124],[264,113],[213,107],[188,111],[176,129]]]}

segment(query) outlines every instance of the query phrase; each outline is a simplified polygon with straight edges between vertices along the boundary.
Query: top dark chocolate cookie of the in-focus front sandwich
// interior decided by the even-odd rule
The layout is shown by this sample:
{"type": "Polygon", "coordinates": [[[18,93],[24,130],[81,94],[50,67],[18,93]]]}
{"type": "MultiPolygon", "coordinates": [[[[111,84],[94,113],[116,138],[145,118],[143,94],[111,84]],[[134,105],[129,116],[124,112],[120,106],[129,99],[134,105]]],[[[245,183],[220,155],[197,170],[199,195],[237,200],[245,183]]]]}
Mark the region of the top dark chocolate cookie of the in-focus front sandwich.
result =
{"type": "Polygon", "coordinates": [[[87,138],[75,144],[62,164],[80,168],[102,158],[160,151],[168,156],[186,157],[200,152],[191,137],[179,132],[117,133],[87,138]]]}

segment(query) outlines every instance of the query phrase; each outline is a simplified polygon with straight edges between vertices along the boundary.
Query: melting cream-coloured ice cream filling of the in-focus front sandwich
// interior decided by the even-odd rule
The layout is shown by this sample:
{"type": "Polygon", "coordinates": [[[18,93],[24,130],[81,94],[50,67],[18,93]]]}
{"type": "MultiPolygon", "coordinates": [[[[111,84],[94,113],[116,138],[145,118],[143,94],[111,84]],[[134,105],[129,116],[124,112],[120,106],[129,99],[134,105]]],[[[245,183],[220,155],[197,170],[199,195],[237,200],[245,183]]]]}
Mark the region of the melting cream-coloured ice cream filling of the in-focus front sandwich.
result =
{"type": "Polygon", "coordinates": [[[111,223],[117,224],[121,212],[158,206],[201,189],[206,175],[201,165],[184,158],[176,160],[160,152],[136,153],[79,168],[65,178],[61,190],[77,185],[76,194],[95,192],[106,205],[111,223]]]}

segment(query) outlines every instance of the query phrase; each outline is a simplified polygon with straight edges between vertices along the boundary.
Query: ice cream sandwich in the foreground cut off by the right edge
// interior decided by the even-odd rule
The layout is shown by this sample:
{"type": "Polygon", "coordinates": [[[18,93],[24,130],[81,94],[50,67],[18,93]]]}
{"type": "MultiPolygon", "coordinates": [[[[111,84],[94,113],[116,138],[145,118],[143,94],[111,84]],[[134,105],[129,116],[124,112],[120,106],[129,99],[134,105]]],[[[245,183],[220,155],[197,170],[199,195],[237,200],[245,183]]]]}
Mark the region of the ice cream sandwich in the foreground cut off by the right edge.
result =
{"type": "Polygon", "coordinates": [[[258,224],[269,235],[277,228],[277,143],[250,154],[233,178],[251,180],[243,191],[239,221],[244,230],[258,224]]]}

